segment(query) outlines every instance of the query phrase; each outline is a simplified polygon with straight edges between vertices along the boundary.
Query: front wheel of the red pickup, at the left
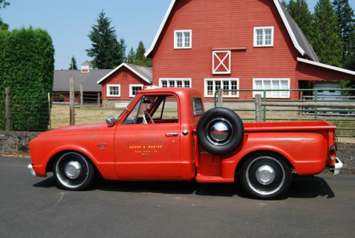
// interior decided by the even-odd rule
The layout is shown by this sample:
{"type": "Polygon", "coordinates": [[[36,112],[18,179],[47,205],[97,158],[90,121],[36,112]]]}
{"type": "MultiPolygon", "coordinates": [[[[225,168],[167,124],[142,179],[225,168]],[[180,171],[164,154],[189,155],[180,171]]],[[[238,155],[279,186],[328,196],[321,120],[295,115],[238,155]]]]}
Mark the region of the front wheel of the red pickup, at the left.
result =
{"type": "Polygon", "coordinates": [[[53,174],[60,188],[83,190],[92,184],[94,166],[81,153],[68,152],[60,156],[53,165],[53,174]]]}

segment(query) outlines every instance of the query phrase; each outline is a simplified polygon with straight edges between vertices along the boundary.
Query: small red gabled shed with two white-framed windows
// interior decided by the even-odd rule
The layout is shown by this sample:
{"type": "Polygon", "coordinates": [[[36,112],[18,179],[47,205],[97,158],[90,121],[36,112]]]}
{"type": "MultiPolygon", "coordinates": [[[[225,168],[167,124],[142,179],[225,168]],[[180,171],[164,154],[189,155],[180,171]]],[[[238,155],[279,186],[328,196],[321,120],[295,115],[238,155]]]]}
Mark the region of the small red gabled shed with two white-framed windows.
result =
{"type": "Polygon", "coordinates": [[[97,84],[102,85],[103,104],[126,102],[152,83],[152,68],[122,63],[97,84]]]}

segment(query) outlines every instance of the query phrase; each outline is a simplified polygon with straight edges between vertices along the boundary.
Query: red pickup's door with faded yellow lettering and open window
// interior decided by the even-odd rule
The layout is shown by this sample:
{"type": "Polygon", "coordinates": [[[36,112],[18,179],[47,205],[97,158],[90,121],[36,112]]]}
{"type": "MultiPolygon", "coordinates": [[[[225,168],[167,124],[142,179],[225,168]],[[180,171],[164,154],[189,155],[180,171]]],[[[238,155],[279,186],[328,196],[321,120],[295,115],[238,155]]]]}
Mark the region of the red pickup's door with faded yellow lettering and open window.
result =
{"type": "Polygon", "coordinates": [[[181,173],[179,102],[175,95],[143,95],[116,128],[119,179],[178,178],[181,173]]]}

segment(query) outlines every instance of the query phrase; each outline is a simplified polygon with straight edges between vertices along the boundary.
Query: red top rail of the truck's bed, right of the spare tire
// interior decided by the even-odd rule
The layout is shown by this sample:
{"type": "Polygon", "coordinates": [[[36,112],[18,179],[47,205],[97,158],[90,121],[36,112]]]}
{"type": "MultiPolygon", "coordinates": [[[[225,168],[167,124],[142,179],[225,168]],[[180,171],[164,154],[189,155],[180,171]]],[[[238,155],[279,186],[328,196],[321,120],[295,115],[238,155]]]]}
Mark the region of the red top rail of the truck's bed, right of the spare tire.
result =
{"type": "Polygon", "coordinates": [[[244,123],[244,131],[319,131],[336,129],[337,126],[327,121],[280,121],[280,122],[249,122],[244,123]]]}

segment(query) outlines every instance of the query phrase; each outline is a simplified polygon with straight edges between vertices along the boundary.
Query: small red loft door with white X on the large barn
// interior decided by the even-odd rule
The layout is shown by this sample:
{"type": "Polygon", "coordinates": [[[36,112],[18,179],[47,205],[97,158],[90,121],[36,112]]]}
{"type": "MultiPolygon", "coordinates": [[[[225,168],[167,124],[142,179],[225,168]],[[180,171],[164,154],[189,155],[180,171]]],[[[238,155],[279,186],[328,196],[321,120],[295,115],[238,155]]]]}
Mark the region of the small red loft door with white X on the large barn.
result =
{"type": "Polygon", "coordinates": [[[231,50],[214,50],[212,52],[212,73],[223,75],[231,73],[231,50]]]}

